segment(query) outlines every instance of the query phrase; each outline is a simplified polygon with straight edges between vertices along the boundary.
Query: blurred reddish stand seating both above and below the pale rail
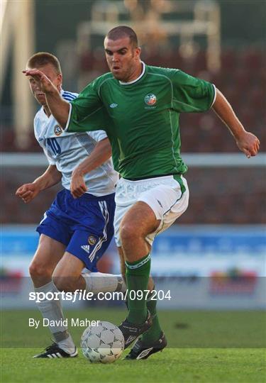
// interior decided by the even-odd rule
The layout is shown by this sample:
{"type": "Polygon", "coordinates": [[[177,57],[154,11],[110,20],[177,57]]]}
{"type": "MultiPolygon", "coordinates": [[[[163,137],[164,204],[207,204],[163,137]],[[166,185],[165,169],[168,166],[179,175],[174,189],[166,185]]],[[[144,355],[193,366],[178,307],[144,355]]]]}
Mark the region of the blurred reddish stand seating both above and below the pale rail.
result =
{"type": "MultiPolygon", "coordinates": [[[[206,55],[199,51],[193,60],[184,61],[179,53],[160,55],[145,53],[143,59],[150,65],[179,67],[194,76],[214,82],[228,97],[245,128],[260,139],[261,152],[266,151],[266,87],[265,55],[261,50],[223,50],[221,70],[211,74],[206,70],[206,55]],[[247,90],[248,89],[248,90],[247,90]]],[[[106,71],[103,53],[87,52],[80,59],[82,79],[94,77],[106,71]]],[[[231,134],[212,111],[207,113],[183,113],[180,116],[182,153],[186,152],[238,152],[231,134]]],[[[15,133],[4,127],[1,140],[2,152],[41,152],[33,133],[28,147],[16,145],[15,133]]],[[[243,156],[243,161],[245,157],[243,156]]],[[[1,181],[1,211],[3,223],[38,223],[43,211],[55,195],[55,189],[44,191],[31,203],[31,208],[14,197],[18,185],[31,182],[42,169],[4,169],[1,181]],[[12,174],[12,175],[11,175],[12,174]]],[[[250,167],[215,167],[200,169],[190,167],[187,173],[191,198],[189,209],[178,223],[265,223],[265,180],[263,169],[250,167]]]]}

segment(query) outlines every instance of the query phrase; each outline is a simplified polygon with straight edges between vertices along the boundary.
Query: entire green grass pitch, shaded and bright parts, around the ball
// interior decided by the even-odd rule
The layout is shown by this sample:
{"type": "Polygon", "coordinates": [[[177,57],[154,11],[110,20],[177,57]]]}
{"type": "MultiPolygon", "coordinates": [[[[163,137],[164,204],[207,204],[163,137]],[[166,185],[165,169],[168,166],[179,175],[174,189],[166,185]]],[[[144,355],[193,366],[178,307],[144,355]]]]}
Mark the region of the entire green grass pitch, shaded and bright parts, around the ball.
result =
{"type": "MultiPolygon", "coordinates": [[[[119,323],[124,309],[67,311],[67,318],[119,323]]],[[[262,311],[160,311],[169,347],[148,360],[91,364],[70,359],[33,359],[49,345],[47,328],[28,327],[38,311],[1,313],[1,382],[266,382],[266,316],[262,311]]],[[[79,344],[84,328],[70,328],[79,344]]],[[[125,355],[128,351],[125,351],[125,355]]]]}

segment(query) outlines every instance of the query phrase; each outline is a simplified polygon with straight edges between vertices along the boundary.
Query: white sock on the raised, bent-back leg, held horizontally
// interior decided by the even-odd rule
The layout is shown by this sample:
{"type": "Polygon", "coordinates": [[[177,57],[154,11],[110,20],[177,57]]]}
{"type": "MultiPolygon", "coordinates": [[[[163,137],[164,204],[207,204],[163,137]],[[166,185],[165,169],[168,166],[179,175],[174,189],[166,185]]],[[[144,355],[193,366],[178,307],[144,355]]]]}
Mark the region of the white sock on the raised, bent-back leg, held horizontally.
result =
{"type": "Polygon", "coordinates": [[[82,273],[87,292],[126,292],[126,283],[121,275],[104,274],[103,272],[82,273]]]}

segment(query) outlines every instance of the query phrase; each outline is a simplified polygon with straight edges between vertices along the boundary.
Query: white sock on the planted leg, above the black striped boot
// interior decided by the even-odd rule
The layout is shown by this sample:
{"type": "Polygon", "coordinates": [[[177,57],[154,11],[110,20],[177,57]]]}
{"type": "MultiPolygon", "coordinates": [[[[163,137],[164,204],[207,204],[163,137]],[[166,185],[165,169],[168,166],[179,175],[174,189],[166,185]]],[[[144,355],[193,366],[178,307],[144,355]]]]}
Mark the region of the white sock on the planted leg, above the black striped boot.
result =
{"type": "MultiPolygon", "coordinates": [[[[55,294],[59,291],[57,290],[55,284],[52,281],[50,281],[44,286],[35,287],[35,292],[43,292],[44,294],[52,292],[52,294],[55,294]]],[[[64,350],[66,353],[74,353],[75,345],[72,340],[72,337],[67,331],[67,326],[63,326],[61,324],[62,321],[65,320],[65,318],[62,312],[62,305],[60,299],[54,299],[52,301],[45,299],[43,301],[36,302],[36,304],[43,318],[47,318],[49,321],[57,321],[57,323],[59,323],[59,326],[49,326],[50,332],[52,333],[52,336],[55,339],[57,345],[59,345],[59,347],[62,348],[62,350],[64,350]]]]}

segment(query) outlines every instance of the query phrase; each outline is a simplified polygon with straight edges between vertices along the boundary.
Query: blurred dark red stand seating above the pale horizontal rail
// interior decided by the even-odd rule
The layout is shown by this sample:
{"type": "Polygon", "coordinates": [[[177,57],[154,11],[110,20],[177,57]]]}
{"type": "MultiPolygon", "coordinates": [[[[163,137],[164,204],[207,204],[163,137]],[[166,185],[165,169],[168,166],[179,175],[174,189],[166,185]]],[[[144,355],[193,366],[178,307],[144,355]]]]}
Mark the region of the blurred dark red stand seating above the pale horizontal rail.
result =
{"type": "MultiPolygon", "coordinates": [[[[193,76],[213,82],[237,113],[247,130],[260,139],[261,151],[266,151],[266,55],[260,49],[223,50],[221,70],[211,73],[206,67],[206,53],[198,50],[184,58],[179,51],[146,51],[143,60],[148,65],[174,67],[193,76]]],[[[85,52],[79,60],[79,89],[108,69],[104,52],[85,52]]],[[[72,89],[70,89],[72,90],[72,89]]],[[[230,133],[212,111],[208,113],[183,113],[180,117],[182,152],[238,152],[230,133]]],[[[15,132],[4,126],[0,150],[4,152],[38,152],[33,131],[26,148],[16,145],[15,132]]]]}

